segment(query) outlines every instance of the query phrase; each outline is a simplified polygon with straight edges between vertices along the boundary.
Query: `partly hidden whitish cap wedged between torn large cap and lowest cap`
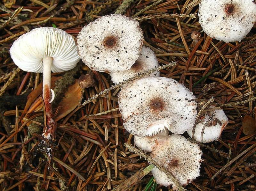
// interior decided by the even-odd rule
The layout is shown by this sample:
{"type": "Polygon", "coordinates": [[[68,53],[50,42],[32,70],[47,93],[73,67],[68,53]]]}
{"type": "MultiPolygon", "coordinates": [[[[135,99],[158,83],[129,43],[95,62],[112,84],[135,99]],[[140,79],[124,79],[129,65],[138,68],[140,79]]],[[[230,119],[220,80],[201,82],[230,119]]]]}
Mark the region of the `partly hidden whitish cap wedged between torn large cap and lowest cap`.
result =
{"type": "Polygon", "coordinates": [[[154,136],[134,136],[134,143],[145,152],[152,152],[158,142],[168,136],[168,131],[163,131],[154,136]]]}

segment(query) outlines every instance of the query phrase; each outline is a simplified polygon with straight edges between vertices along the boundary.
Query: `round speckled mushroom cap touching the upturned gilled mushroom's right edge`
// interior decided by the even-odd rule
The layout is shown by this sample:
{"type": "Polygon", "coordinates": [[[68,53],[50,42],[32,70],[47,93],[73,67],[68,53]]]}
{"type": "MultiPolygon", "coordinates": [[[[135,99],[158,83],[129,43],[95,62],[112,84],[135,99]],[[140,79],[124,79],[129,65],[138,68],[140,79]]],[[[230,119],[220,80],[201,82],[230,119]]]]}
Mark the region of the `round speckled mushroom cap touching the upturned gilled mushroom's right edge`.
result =
{"type": "Polygon", "coordinates": [[[78,55],[92,70],[128,70],[143,43],[139,22],[124,15],[106,15],[89,23],[77,36],[78,55]]]}

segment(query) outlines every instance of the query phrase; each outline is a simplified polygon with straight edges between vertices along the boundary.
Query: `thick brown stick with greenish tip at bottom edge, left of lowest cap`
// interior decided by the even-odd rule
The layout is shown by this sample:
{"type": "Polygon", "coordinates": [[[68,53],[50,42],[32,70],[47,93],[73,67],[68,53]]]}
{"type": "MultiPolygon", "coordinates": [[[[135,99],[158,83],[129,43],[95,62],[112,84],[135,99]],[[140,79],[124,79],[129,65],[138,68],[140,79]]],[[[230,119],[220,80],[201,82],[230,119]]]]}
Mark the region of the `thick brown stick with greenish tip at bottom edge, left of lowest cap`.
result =
{"type": "Polygon", "coordinates": [[[130,178],[119,184],[117,187],[115,187],[111,191],[128,191],[130,190],[130,187],[138,184],[138,181],[140,181],[144,176],[146,176],[155,166],[153,164],[147,166],[144,169],[140,169],[135,174],[133,174],[130,178]]]}

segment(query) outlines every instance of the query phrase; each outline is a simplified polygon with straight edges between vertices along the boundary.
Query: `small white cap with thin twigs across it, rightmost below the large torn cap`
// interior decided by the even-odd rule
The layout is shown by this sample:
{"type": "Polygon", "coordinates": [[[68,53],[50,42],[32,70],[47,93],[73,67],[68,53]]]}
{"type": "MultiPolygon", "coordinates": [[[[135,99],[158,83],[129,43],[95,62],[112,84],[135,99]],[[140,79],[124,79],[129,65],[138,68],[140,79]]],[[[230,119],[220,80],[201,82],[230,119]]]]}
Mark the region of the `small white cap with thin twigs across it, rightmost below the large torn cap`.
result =
{"type": "MultiPolygon", "coordinates": [[[[210,107],[210,108],[213,108],[213,107],[210,107]]],[[[228,118],[225,115],[224,111],[220,107],[217,107],[212,111],[207,112],[207,114],[204,114],[204,116],[201,117],[199,123],[196,124],[195,137],[194,137],[196,141],[201,142],[201,132],[203,130],[204,124],[210,118],[213,112],[216,112],[216,113],[212,117],[212,120],[209,121],[209,123],[206,125],[204,129],[202,143],[210,143],[212,141],[217,141],[220,138],[220,135],[223,129],[228,124],[228,118]]],[[[193,128],[187,131],[190,137],[192,137],[192,130],[193,128]]]]}

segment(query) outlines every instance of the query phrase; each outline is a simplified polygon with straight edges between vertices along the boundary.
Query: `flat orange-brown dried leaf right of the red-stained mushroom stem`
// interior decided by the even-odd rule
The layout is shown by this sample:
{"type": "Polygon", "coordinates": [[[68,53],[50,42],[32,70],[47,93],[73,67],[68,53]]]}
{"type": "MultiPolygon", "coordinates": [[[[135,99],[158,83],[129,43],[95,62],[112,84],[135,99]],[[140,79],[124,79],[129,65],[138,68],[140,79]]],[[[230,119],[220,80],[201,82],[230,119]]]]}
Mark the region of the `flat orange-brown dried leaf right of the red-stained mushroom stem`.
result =
{"type": "Polygon", "coordinates": [[[59,121],[78,106],[83,94],[82,90],[83,89],[79,86],[77,80],[75,84],[69,86],[64,98],[60,102],[60,110],[55,121],[59,121]]]}

